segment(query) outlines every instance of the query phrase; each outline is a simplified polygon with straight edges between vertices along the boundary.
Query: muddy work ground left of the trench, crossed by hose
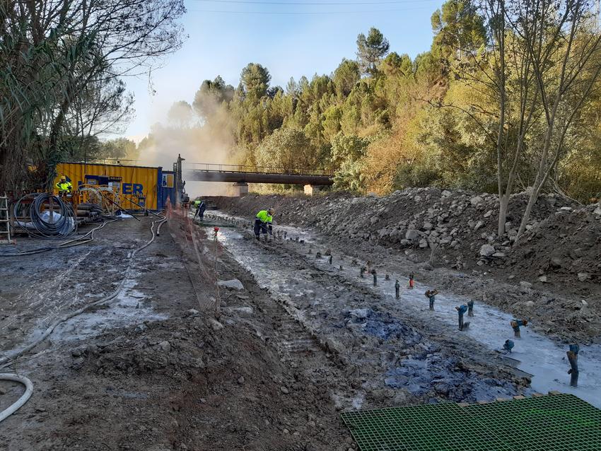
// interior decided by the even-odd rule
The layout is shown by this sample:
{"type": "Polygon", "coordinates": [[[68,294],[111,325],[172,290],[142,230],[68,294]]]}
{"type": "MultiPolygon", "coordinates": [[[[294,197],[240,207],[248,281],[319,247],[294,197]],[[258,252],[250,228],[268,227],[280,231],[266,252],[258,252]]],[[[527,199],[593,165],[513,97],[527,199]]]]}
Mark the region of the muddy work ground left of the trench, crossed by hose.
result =
{"type": "MultiPolygon", "coordinates": [[[[342,383],[327,377],[335,363],[322,352],[315,360],[298,358],[295,365],[282,361],[265,337],[276,339],[287,314],[233,262],[228,265],[233,273],[221,274],[245,284],[237,295],[255,308],[254,324],[235,310],[224,309],[219,322],[211,312],[189,312],[199,310],[199,302],[168,231],[163,228],[139,254],[132,282],[119,298],[57,328],[35,353],[2,370],[30,377],[35,387],[30,401],[1,423],[3,449],[350,447],[329,399],[331,387],[342,383]],[[324,379],[306,380],[303,368],[316,363],[324,379]]],[[[27,342],[89,295],[109,291],[122,276],[127,251],[148,237],[148,220],[128,220],[108,225],[93,245],[5,257],[2,351],[27,342]]],[[[35,246],[19,242],[19,249],[35,246]]],[[[227,254],[221,258],[228,262],[227,254]]],[[[241,302],[223,293],[224,303],[232,296],[234,305],[241,302]]],[[[23,392],[9,382],[0,382],[0,388],[0,409],[23,392]]]]}

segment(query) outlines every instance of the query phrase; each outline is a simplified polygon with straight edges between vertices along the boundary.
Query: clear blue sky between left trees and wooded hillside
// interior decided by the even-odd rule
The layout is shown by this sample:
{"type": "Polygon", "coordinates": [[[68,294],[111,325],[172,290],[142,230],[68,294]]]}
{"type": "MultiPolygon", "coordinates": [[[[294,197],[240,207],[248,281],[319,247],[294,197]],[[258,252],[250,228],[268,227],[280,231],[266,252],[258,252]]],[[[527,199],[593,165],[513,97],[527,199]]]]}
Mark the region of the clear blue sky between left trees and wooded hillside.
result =
{"type": "Polygon", "coordinates": [[[249,62],[266,66],[272,74],[272,85],[284,87],[291,76],[298,80],[303,75],[310,78],[315,73],[330,74],[343,58],[355,58],[358,33],[367,34],[372,26],[384,33],[391,51],[415,57],[430,47],[430,18],[443,3],[327,0],[324,3],[329,4],[306,5],[320,2],[245,1],[249,0],[185,0],[188,12],[182,23],[189,37],[161,69],[153,72],[151,82],[156,93],[150,94],[148,78],[126,80],[136,98],[136,117],[124,136],[141,139],[152,124],[165,122],[173,102],[192,102],[206,78],[221,75],[237,86],[240,71],[249,62]]]}

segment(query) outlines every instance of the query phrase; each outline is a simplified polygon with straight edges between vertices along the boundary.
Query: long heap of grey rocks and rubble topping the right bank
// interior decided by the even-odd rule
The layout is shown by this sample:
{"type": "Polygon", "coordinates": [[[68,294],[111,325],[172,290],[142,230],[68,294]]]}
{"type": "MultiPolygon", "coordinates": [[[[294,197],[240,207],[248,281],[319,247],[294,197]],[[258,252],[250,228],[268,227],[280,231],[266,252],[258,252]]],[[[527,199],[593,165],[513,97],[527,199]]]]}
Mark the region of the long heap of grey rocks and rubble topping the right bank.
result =
{"type": "MultiPolygon", "coordinates": [[[[414,188],[397,191],[387,197],[283,197],[250,195],[242,199],[218,198],[221,208],[252,215],[257,209],[274,206],[276,220],[315,227],[329,235],[353,241],[369,242],[404,250],[409,259],[423,261],[426,256],[457,269],[474,266],[504,267],[523,257],[520,252],[548,251],[550,240],[567,238],[566,247],[578,246],[568,234],[549,236],[556,225],[549,218],[571,218],[571,223],[590,225],[583,233],[594,234],[601,225],[588,209],[574,210],[571,202],[553,194],[539,198],[532,211],[527,233],[518,247],[513,247],[518,226],[527,204],[527,195],[515,194],[508,206],[506,234],[496,236],[498,201],[491,194],[465,191],[414,188]],[[578,213],[578,214],[576,214],[578,213]],[[582,222],[584,221],[584,222],[582,222]],[[542,242],[532,238],[544,235],[542,242]],[[545,242],[547,241],[547,242],[545,242]],[[539,247],[537,249],[536,247],[539,247]]],[[[580,240],[580,238],[578,238],[580,240]]],[[[589,242],[588,240],[587,242],[589,242]]],[[[587,245],[582,252],[591,258],[595,251],[587,245]]],[[[581,266],[587,266],[582,260],[581,266]]],[[[524,266],[522,269],[532,267],[524,266]]],[[[535,279],[539,268],[532,274],[535,279]]],[[[580,267],[582,271],[586,268],[580,267]]],[[[595,274],[597,271],[589,271],[595,274]]]]}

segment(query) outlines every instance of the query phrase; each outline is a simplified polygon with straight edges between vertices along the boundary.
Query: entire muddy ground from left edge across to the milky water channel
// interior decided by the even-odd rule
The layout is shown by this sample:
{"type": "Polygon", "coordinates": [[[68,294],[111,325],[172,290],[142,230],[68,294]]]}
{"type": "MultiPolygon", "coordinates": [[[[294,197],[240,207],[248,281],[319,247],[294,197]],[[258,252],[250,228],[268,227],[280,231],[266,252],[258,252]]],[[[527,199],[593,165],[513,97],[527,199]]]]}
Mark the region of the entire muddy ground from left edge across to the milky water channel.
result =
{"type": "MultiPolygon", "coordinates": [[[[110,223],[79,247],[1,257],[0,355],[126,278],[117,298],[0,368],[35,389],[0,424],[7,450],[349,450],[344,409],[527,392],[527,378],[498,354],[395,315],[374,291],[307,264],[286,243],[244,245],[315,281],[294,303],[272,298],[221,245],[218,279],[243,288],[216,291],[214,242],[177,217],[124,274],[150,221],[110,223]]],[[[18,241],[18,250],[47,244],[18,241]]],[[[0,382],[0,409],[22,392],[0,382]]]]}

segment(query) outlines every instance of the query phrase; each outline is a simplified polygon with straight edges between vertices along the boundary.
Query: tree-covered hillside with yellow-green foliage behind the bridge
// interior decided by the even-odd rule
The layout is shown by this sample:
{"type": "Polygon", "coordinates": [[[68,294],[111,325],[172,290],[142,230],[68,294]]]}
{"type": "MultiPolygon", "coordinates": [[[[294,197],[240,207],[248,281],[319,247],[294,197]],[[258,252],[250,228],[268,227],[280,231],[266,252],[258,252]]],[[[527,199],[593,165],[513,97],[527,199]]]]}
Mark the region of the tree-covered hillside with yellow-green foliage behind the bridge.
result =
{"type": "Polygon", "coordinates": [[[601,191],[593,11],[580,0],[450,0],[432,16],[431,49],[414,59],[390,52],[372,28],[358,35],[356,60],[332,74],[282,88],[270,85],[267,68],[248,64],[236,88],[206,80],[192,102],[173,105],[170,120],[190,127],[199,117],[204,128],[227,130],[239,163],[332,169],[337,188],[378,193],[438,185],[503,194],[509,177],[510,192],[536,187],[549,131],[541,189],[585,201],[601,191]],[[574,79],[559,87],[566,54],[574,79]]]}

